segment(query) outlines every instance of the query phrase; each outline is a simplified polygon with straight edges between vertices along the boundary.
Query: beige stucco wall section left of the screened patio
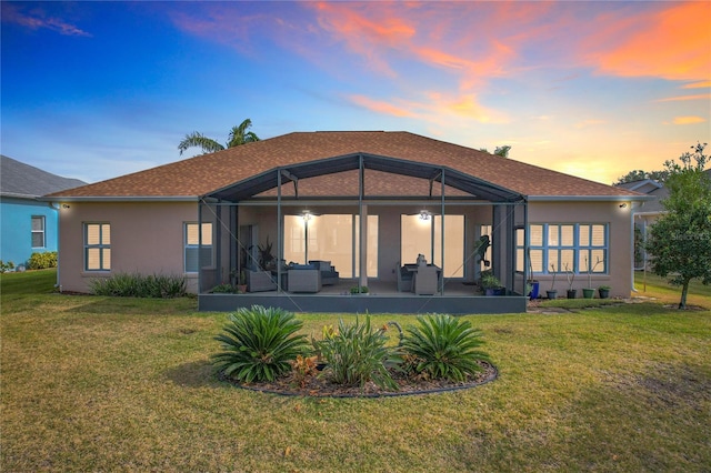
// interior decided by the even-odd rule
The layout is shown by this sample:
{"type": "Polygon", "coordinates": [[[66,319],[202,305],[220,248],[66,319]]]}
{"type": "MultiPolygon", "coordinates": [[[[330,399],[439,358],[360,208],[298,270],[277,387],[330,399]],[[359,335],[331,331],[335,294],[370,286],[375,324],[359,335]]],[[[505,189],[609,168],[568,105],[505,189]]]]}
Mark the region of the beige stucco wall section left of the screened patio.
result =
{"type": "MultiPolygon", "coordinates": [[[[71,202],[60,210],[59,285],[88,292],[91,278],[117,272],[183,274],[183,222],[198,220],[196,202],[71,202]],[[87,272],[83,224],[111,224],[111,271],[87,272]]],[[[197,274],[186,274],[197,290],[197,274]]]]}

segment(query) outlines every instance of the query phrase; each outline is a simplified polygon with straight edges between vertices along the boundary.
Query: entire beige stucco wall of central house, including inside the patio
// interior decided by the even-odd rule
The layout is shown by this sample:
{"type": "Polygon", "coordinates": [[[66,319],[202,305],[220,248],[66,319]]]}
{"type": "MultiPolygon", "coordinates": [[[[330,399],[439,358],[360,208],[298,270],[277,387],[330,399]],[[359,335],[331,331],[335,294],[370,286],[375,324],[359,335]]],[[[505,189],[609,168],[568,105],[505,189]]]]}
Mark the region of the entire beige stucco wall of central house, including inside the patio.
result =
{"type": "MultiPolygon", "coordinates": [[[[370,204],[367,210],[371,215],[379,215],[379,279],[394,281],[394,268],[400,260],[400,214],[417,213],[421,204],[402,203],[394,205],[370,204]]],[[[300,213],[302,207],[284,207],[283,213],[300,213]]],[[[318,211],[319,209],[312,209],[318,211]]],[[[437,205],[432,211],[437,211],[437,205]]],[[[358,205],[324,207],[323,213],[358,213],[358,205]]],[[[467,207],[448,205],[447,212],[465,215],[465,252],[470,254],[479,238],[479,225],[491,224],[492,210],[489,205],[467,207]]],[[[522,212],[517,224],[522,224],[522,212]]],[[[222,211],[229,227],[229,211],[222,211]]],[[[203,208],[203,221],[212,220],[213,213],[203,208]]],[[[123,203],[83,203],[72,202],[69,209],[60,213],[60,271],[59,284],[64,291],[88,291],[90,278],[108,275],[117,272],[139,272],[144,274],[168,273],[183,274],[183,223],[198,220],[196,202],[123,202],[123,203]],[[111,223],[112,271],[97,273],[83,271],[83,223],[111,223]]],[[[259,242],[263,243],[269,235],[277,250],[277,212],[267,207],[242,207],[239,210],[239,225],[259,225],[259,242]]],[[[620,209],[619,202],[533,202],[529,204],[529,223],[607,223],[609,225],[610,271],[605,275],[592,276],[593,286],[607,284],[612,286],[613,295],[629,295],[631,290],[631,219],[629,208],[620,209]]],[[[216,222],[216,229],[218,224],[216,222]]],[[[229,268],[229,244],[231,230],[223,227],[220,238],[222,251],[219,256],[223,271],[229,268]]],[[[238,231],[237,229],[233,229],[238,231]]],[[[500,261],[500,264],[503,264],[500,261]]],[[[474,279],[474,260],[467,263],[467,278],[474,279]]],[[[214,271],[213,271],[214,272],[214,271]]],[[[203,278],[210,279],[210,271],[203,278]]],[[[206,282],[206,286],[228,281],[229,274],[213,274],[214,281],[206,282]]],[[[197,292],[197,274],[186,274],[189,290],[197,292]]],[[[540,276],[541,291],[550,288],[550,278],[540,276]]],[[[574,286],[587,286],[587,275],[578,275],[574,286]]],[[[558,276],[555,288],[564,295],[567,281],[558,276]]]]}

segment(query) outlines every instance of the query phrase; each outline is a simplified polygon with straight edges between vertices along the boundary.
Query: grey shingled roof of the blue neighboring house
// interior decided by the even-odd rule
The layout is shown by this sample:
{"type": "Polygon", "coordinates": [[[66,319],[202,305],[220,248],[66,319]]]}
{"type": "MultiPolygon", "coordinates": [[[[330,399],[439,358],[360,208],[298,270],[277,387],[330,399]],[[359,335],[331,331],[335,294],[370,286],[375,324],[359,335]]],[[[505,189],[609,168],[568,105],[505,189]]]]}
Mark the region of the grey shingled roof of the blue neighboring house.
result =
{"type": "Polygon", "coordinates": [[[0,154],[0,195],[34,199],[50,192],[84,185],[79,179],[62,178],[0,154]]]}

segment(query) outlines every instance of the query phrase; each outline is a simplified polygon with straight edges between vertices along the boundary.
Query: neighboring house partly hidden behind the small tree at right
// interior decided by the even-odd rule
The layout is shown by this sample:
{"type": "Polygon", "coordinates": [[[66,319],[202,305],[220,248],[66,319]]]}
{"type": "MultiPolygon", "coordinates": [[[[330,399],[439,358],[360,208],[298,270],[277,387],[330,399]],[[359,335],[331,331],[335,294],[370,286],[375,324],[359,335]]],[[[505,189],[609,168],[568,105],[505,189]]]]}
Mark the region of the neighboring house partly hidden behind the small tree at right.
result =
{"type": "MultiPolygon", "coordinates": [[[[708,169],[704,172],[711,180],[711,169],[708,169]]],[[[640,192],[649,197],[648,201],[640,202],[632,209],[635,229],[634,269],[642,270],[645,262],[649,261],[647,258],[647,251],[644,251],[644,248],[642,246],[642,242],[647,240],[647,232],[649,231],[649,228],[654,224],[662,213],[665,212],[661,201],[669,197],[669,190],[663,183],[657,182],[652,179],[623,182],[621,184],[617,184],[617,187],[640,192]]]]}

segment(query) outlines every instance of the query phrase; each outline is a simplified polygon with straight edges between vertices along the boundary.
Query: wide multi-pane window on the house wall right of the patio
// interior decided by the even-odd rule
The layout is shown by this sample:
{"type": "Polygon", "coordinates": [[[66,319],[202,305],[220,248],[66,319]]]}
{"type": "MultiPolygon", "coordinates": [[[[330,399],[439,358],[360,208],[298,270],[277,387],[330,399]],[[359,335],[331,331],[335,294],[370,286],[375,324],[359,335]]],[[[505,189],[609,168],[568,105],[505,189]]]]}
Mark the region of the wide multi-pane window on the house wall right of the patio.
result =
{"type": "MultiPolygon", "coordinates": [[[[517,255],[523,256],[523,232],[517,234],[517,255]]],[[[561,223],[529,225],[531,269],[534,274],[573,271],[577,274],[608,272],[608,225],[561,223]]],[[[517,263],[519,270],[522,268],[517,263]]]]}

